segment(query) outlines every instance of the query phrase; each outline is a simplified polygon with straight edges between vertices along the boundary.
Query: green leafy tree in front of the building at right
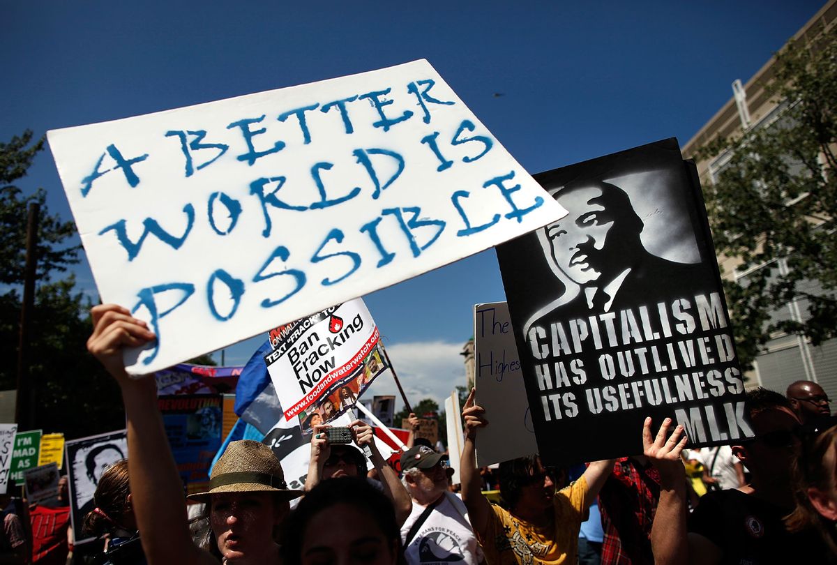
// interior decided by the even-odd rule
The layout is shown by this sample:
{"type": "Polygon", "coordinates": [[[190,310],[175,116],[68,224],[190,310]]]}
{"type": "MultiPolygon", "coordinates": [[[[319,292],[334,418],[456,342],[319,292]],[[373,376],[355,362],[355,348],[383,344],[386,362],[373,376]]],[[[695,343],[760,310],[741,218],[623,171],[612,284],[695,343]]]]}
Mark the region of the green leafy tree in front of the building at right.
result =
{"type": "Polygon", "coordinates": [[[837,336],[837,31],[791,41],[776,58],[767,89],[777,119],[699,152],[729,157],[704,192],[716,249],[753,269],[744,285],[725,281],[746,366],[774,331],[814,345],[837,336]],[[791,300],[804,321],[771,316],[791,300]]]}

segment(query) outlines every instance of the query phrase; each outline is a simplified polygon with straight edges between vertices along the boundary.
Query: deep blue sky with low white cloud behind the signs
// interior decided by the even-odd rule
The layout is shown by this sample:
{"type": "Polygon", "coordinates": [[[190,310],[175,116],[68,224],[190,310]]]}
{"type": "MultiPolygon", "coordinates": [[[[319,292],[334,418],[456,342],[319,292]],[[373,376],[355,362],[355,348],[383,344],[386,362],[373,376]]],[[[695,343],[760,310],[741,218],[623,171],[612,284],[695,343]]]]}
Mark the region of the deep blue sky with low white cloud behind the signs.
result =
{"type": "MultiPolygon", "coordinates": [[[[0,0],[0,139],[429,59],[534,173],[685,144],[823,5],[447,4],[0,0]]],[[[49,210],[70,217],[49,150],[18,185],[44,187],[49,210]]],[[[86,264],[77,277],[95,296],[86,264]]],[[[489,251],[365,299],[417,401],[464,383],[472,306],[505,295],[489,251]]],[[[228,364],[258,341],[229,347],[228,364]]]]}

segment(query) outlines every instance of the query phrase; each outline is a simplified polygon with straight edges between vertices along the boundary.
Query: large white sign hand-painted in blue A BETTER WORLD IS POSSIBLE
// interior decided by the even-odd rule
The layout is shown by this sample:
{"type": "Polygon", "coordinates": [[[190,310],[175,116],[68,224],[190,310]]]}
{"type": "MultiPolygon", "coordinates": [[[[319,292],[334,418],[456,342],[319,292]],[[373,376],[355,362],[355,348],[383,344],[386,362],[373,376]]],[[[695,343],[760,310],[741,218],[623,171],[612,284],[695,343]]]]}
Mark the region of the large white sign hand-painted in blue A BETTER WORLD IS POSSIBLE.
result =
{"type": "Polygon", "coordinates": [[[102,300],[157,333],[132,373],[564,214],[426,60],[48,138],[102,300]]]}

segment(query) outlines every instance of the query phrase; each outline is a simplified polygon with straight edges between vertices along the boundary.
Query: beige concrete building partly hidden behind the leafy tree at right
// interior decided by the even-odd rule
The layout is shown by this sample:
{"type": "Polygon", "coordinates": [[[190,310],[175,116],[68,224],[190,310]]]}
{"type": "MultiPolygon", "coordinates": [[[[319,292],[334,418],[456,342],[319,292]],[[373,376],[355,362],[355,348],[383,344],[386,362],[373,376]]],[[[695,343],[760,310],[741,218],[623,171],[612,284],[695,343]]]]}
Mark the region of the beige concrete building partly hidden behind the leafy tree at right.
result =
{"type": "MultiPolygon", "coordinates": [[[[809,44],[822,30],[832,28],[835,18],[837,0],[829,0],[793,37],[809,44]]],[[[771,100],[765,90],[765,85],[773,78],[773,63],[773,58],[768,60],[745,84],[742,84],[741,80],[732,83],[732,98],[683,146],[684,157],[694,157],[698,148],[717,136],[735,136],[741,131],[768,126],[778,119],[784,105],[771,100]]],[[[715,182],[717,174],[728,159],[729,156],[721,154],[697,162],[701,184],[704,187],[715,182]]],[[[718,259],[723,275],[742,284],[747,283],[747,275],[765,266],[740,270],[738,267],[741,262],[736,258],[718,259]]],[[[769,266],[777,268],[780,273],[788,268],[782,260],[769,266]]],[[[773,311],[771,321],[804,321],[806,311],[804,300],[793,300],[773,311]]],[[[781,393],[784,393],[785,388],[793,381],[815,381],[824,388],[829,398],[837,398],[837,339],[813,347],[801,336],[777,332],[771,336],[766,351],[757,358],[754,370],[748,373],[747,377],[747,387],[763,386],[781,393]]],[[[837,407],[833,404],[831,408],[834,411],[837,407]]]]}

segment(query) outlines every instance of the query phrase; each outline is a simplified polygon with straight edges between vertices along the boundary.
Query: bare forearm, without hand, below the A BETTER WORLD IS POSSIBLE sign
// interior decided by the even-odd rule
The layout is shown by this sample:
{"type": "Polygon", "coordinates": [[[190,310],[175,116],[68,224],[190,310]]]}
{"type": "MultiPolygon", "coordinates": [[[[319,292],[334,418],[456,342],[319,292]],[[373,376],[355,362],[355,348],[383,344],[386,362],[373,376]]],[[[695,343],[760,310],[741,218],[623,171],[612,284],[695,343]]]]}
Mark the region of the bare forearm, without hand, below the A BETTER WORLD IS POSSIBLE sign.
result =
{"type": "MultiPolygon", "coordinates": [[[[128,424],[131,500],[149,565],[191,562],[183,488],[157,409],[153,381],[122,386],[128,424]]],[[[197,551],[195,549],[195,551],[197,551]]]]}

